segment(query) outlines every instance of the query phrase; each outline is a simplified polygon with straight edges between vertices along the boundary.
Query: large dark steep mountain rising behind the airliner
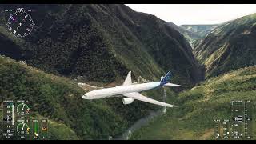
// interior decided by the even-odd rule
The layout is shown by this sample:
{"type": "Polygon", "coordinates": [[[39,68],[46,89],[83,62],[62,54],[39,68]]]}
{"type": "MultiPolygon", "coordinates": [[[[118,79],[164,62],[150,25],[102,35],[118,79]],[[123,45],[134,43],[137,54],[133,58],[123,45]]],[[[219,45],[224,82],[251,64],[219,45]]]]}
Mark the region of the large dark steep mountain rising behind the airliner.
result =
{"type": "MultiPolygon", "coordinates": [[[[1,5],[0,10],[20,5],[1,5]]],[[[0,14],[0,54],[30,66],[88,81],[114,82],[134,76],[159,79],[167,70],[184,86],[203,79],[190,44],[153,15],[125,5],[22,5],[34,9],[33,34],[15,38],[0,14]]]]}

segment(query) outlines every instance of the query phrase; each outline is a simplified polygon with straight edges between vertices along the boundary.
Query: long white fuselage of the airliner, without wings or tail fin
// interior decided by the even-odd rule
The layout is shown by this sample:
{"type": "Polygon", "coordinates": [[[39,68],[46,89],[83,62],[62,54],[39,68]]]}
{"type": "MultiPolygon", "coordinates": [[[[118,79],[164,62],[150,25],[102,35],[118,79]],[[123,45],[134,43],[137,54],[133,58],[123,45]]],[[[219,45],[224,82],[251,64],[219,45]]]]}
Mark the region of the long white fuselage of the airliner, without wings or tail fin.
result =
{"type": "Polygon", "coordinates": [[[98,99],[106,98],[119,94],[126,94],[132,92],[141,92],[144,90],[151,90],[160,86],[161,82],[148,82],[142,84],[133,84],[129,86],[115,86],[101,90],[93,90],[82,96],[84,99],[98,99]]]}

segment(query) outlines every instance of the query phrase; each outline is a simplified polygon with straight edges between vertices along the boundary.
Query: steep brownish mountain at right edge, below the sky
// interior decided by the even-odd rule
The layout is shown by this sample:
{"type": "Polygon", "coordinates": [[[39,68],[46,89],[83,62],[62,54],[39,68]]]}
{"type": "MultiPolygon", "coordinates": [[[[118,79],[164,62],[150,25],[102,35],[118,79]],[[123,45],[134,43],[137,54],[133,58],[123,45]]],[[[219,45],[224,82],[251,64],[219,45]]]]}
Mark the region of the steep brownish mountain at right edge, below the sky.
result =
{"type": "Polygon", "coordinates": [[[225,22],[194,46],[206,76],[256,64],[256,14],[225,22]]]}

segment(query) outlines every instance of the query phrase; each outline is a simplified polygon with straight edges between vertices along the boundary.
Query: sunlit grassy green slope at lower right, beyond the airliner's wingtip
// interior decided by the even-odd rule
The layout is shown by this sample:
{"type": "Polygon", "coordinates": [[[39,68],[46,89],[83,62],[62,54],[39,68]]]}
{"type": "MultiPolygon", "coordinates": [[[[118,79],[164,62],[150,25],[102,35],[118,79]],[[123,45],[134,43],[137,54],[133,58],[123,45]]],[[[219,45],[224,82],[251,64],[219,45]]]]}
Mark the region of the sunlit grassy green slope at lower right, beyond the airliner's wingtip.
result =
{"type": "MultiPolygon", "coordinates": [[[[135,132],[132,139],[214,139],[214,119],[232,118],[232,100],[251,100],[256,122],[256,66],[210,78],[182,92],[177,109],[167,110],[164,116],[135,132]]],[[[256,125],[252,130],[255,135],[256,125]]]]}

